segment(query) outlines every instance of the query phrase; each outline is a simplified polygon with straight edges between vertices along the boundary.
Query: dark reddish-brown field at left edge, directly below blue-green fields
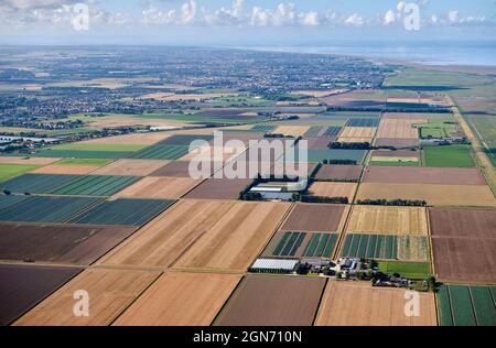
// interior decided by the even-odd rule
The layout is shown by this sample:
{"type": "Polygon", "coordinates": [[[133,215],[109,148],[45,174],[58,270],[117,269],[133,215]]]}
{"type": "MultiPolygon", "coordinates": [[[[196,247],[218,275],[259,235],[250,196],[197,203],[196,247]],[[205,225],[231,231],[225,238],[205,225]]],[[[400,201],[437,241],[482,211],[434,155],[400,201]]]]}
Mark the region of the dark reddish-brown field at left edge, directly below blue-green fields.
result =
{"type": "Polygon", "coordinates": [[[0,225],[0,260],[91,264],[134,228],[0,225]]]}

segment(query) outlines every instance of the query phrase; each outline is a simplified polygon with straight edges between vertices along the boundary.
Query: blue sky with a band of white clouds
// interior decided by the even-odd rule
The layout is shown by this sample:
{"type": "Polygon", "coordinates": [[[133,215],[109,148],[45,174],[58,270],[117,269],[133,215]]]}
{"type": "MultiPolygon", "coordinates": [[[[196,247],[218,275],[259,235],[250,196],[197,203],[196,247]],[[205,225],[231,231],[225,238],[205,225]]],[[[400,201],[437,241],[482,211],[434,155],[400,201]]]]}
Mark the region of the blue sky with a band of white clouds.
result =
{"type": "Polygon", "coordinates": [[[496,41],[496,0],[0,0],[0,44],[496,41]]]}

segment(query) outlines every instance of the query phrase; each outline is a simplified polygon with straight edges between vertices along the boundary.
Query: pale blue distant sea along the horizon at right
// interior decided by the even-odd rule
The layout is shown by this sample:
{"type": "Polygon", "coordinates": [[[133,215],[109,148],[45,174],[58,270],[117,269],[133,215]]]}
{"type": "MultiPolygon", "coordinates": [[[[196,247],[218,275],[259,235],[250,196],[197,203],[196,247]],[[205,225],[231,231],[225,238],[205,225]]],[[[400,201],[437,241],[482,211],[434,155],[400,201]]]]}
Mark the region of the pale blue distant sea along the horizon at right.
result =
{"type": "Polygon", "coordinates": [[[398,59],[425,65],[496,66],[495,42],[354,42],[299,46],[245,46],[256,51],[342,54],[370,58],[398,59]]]}

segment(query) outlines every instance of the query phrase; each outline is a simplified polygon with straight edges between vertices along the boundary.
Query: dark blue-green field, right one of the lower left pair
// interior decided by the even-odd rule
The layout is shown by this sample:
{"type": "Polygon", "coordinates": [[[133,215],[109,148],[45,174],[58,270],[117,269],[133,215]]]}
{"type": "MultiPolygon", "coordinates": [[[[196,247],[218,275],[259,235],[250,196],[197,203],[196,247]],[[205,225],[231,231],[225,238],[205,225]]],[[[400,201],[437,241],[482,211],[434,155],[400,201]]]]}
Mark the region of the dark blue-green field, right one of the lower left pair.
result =
{"type": "Polygon", "coordinates": [[[141,226],[168,208],[173,200],[166,199],[115,199],[105,200],[78,217],[72,224],[141,226]]]}

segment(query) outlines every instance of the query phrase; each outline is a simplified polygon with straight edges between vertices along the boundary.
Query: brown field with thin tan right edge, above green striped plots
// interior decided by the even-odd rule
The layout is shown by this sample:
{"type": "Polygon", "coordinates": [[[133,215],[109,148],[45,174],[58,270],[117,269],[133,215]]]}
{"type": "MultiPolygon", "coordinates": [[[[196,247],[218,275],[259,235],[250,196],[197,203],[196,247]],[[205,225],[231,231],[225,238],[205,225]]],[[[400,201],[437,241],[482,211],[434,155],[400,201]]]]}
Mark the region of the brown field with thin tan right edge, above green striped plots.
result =
{"type": "Polygon", "coordinates": [[[348,209],[345,205],[296,204],[281,230],[339,232],[348,209]]]}

